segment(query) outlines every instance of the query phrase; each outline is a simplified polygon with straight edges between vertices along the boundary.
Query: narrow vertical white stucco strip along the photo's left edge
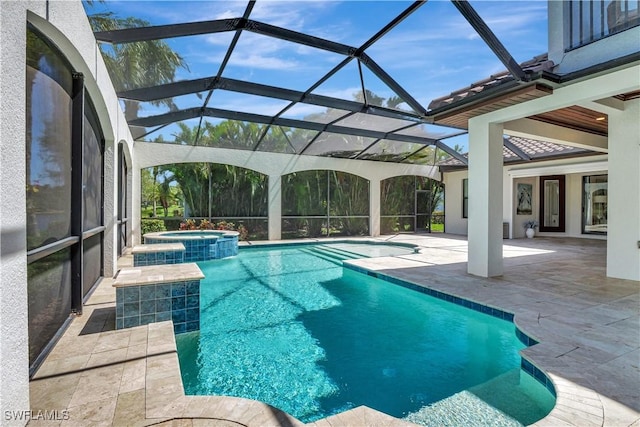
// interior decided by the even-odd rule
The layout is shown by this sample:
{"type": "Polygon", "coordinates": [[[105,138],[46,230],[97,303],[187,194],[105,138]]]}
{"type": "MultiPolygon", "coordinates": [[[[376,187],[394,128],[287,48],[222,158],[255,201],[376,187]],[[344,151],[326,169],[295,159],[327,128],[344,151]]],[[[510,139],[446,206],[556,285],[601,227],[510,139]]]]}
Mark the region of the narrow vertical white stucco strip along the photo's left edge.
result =
{"type": "MultiPolygon", "coordinates": [[[[0,415],[29,409],[25,230],[27,2],[0,2],[0,415]]],[[[36,5],[32,5],[36,6],[36,5]]]]}

